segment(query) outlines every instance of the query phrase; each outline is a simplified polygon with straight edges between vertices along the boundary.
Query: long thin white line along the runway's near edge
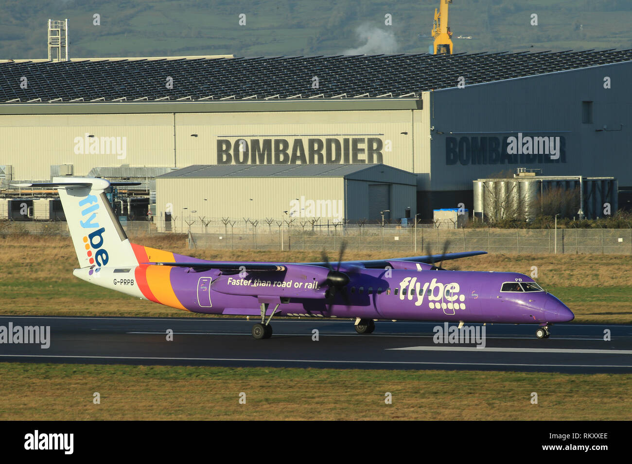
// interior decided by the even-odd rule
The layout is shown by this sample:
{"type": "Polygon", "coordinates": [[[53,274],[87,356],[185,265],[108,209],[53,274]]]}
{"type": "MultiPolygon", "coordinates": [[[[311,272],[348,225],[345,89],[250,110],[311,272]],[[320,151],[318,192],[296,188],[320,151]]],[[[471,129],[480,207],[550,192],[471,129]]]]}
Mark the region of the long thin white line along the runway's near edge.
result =
{"type": "Polygon", "coordinates": [[[13,355],[0,354],[0,357],[18,358],[73,358],[73,359],[130,359],[130,360],[176,360],[176,361],[240,361],[240,362],[322,362],[328,364],[428,364],[440,366],[523,366],[523,367],[632,367],[617,364],[518,364],[494,362],[430,362],[430,361],[349,361],[324,359],[257,359],[257,358],[176,358],[176,357],[136,357],[136,356],[75,356],[75,355],[13,355]]]}

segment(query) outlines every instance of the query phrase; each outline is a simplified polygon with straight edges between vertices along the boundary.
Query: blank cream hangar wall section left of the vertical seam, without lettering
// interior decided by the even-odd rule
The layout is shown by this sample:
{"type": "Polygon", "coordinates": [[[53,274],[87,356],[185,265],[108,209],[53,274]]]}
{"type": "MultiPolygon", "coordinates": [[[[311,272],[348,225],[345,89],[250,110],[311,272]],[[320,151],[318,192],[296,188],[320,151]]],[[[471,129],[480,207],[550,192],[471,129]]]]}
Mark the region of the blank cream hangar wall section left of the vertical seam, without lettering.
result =
{"type": "Polygon", "coordinates": [[[0,116],[0,140],[0,164],[13,165],[14,179],[49,179],[51,165],[60,164],[87,175],[97,166],[171,167],[174,162],[170,114],[0,116]],[[95,141],[100,151],[102,137],[108,146],[109,138],[119,138],[114,150],[120,150],[91,153],[95,141]]]}

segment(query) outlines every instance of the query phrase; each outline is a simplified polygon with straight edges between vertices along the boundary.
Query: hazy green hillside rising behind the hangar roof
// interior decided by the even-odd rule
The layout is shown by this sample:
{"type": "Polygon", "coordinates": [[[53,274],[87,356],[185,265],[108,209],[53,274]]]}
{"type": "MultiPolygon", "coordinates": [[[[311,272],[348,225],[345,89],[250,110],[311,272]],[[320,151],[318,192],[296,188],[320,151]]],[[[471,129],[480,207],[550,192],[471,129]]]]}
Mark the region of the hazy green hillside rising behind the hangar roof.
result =
{"type": "MultiPolygon", "coordinates": [[[[437,6],[439,0],[4,0],[0,58],[45,58],[48,18],[68,18],[71,57],[427,52],[437,6]],[[241,14],[245,25],[238,24],[241,14]]],[[[449,20],[455,52],[632,48],[629,0],[454,0],[449,20]]]]}

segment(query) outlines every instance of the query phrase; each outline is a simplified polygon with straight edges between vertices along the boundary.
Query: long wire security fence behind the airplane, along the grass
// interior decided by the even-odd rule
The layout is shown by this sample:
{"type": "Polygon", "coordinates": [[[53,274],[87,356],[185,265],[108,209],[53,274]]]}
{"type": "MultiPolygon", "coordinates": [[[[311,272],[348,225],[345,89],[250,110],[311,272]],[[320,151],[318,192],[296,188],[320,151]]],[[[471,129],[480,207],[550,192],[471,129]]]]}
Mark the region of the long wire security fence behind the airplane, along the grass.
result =
{"type": "MultiPolygon", "coordinates": [[[[210,227],[186,225],[183,232],[190,248],[310,250],[337,249],[346,242],[349,249],[398,251],[398,253],[439,254],[482,250],[513,254],[631,254],[632,229],[446,229],[434,224],[418,227],[401,224],[384,226],[350,223],[310,223],[298,221],[228,221],[210,227]],[[279,224],[280,222],[280,224],[279,224]],[[202,229],[202,230],[200,230],[202,229]]],[[[128,221],[123,227],[131,238],[171,235],[159,232],[161,225],[128,221]]],[[[177,231],[177,232],[176,232],[177,231]]],[[[68,236],[65,222],[0,222],[0,235],[37,234],[68,236]]]]}

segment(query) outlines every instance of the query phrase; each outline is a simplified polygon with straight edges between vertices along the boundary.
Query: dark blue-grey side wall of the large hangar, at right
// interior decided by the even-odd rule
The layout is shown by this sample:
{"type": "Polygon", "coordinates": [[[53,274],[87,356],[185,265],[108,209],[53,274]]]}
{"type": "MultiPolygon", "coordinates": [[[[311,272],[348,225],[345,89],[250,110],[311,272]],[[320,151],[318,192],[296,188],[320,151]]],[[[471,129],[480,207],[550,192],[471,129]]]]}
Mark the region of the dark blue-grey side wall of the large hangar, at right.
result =
{"type": "Polygon", "coordinates": [[[455,88],[431,92],[424,99],[424,109],[429,109],[432,118],[430,126],[435,128],[431,141],[432,190],[470,190],[475,179],[494,177],[502,170],[515,172],[517,167],[544,169],[544,175],[614,176],[619,178],[620,186],[632,186],[632,93],[628,86],[632,63],[472,86],[464,77],[465,88],[456,88],[455,81],[455,88]],[[604,88],[606,77],[611,88],[604,88]],[[593,102],[590,123],[582,122],[584,101],[593,102]],[[466,146],[473,143],[473,138],[477,138],[476,143],[489,137],[502,143],[504,137],[518,133],[564,138],[564,159],[528,162],[525,158],[521,162],[520,155],[514,155],[511,162],[499,159],[495,164],[490,160],[473,164],[471,157],[448,162],[450,140],[459,143],[461,138],[466,139],[465,158],[466,146]]]}

